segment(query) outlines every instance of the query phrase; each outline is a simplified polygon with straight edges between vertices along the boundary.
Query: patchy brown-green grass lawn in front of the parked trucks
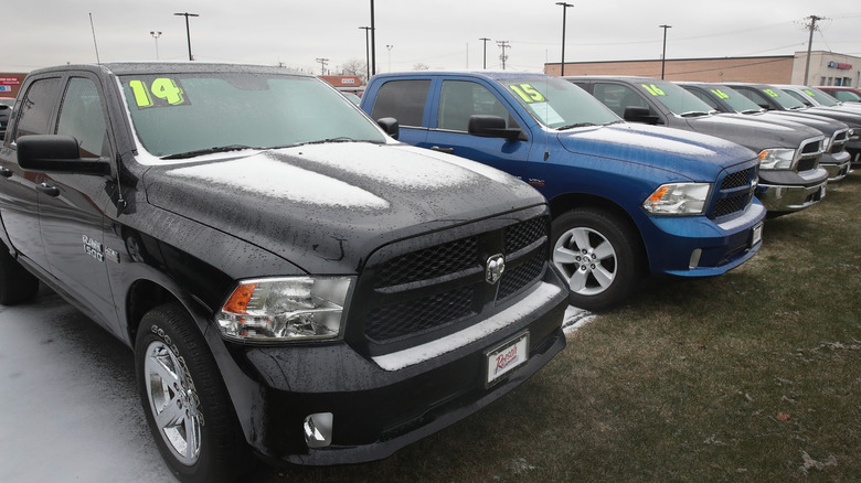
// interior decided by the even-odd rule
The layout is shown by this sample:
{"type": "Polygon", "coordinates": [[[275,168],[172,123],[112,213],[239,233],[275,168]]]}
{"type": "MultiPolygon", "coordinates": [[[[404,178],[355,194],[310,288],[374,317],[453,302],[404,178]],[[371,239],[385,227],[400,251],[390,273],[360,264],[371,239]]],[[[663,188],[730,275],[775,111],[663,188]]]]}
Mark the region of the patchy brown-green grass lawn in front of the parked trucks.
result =
{"type": "Polygon", "coordinates": [[[861,481],[861,170],[734,271],[650,280],[465,421],[261,481],[861,481]]]}

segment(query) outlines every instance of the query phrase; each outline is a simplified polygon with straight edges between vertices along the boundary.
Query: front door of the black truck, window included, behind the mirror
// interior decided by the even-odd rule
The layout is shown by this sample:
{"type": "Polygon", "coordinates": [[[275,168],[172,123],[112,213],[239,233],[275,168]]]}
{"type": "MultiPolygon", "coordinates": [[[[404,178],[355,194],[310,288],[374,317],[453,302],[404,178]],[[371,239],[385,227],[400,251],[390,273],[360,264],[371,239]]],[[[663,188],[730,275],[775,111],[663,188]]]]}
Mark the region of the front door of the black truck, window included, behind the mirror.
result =
{"type": "MultiPolygon", "coordinates": [[[[113,159],[105,110],[95,79],[70,77],[55,133],[74,137],[82,159],[113,159]]],[[[52,273],[93,319],[113,330],[116,311],[105,264],[104,210],[113,183],[106,176],[39,173],[39,218],[52,273]]]]}

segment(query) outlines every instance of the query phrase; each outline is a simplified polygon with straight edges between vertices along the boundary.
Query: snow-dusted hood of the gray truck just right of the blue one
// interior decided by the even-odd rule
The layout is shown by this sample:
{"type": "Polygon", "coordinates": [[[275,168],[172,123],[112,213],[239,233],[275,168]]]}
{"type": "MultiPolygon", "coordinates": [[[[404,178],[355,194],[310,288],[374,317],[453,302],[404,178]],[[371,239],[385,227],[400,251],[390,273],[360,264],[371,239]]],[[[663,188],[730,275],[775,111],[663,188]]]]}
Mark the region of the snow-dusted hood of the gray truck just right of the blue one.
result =
{"type": "Polygon", "coordinates": [[[691,117],[685,121],[697,132],[737,142],[755,152],[774,148],[798,149],[801,141],[822,136],[814,128],[780,126],[743,114],[691,117]]]}

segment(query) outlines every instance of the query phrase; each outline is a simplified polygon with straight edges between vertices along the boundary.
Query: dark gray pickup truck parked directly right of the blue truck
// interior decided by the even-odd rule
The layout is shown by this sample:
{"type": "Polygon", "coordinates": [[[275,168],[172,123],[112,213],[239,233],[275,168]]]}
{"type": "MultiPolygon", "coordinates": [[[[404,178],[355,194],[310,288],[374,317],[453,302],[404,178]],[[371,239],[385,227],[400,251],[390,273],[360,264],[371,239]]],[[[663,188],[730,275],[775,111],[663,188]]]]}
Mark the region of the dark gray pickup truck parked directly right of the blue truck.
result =
{"type": "Polygon", "coordinates": [[[787,128],[734,114],[718,114],[676,84],[650,77],[566,77],[625,120],[684,129],[736,142],[759,154],[756,197],[769,215],[797,212],[826,195],[819,167],[826,138],[805,126],[787,128]]]}

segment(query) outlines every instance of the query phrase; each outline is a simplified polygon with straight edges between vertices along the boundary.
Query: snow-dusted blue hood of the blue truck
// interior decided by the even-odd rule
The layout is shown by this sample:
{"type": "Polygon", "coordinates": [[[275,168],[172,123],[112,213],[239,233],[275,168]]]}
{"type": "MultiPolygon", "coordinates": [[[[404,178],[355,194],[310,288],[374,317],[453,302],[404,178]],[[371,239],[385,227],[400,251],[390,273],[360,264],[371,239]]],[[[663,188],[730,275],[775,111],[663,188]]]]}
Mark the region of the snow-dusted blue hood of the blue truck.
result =
{"type": "Polygon", "coordinates": [[[660,168],[693,181],[713,181],[721,170],[756,157],[723,139],[638,124],[562,131],[559,140],[570,152],[660,168]]]}

